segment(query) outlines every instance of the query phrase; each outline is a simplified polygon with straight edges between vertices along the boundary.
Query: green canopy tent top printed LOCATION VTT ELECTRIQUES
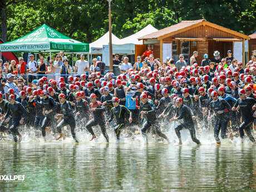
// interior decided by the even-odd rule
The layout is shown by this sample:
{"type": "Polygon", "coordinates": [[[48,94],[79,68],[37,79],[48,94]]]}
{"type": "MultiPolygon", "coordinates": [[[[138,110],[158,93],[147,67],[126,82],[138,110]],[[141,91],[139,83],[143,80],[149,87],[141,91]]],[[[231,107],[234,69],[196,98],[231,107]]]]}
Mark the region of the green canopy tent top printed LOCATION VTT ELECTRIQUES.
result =
{"type": "MultiPolygon", "coordinates": [[[[89,52],[89,45],[73,40],[43,24],[26,36],[0,44],[1,52],[89,52]]],[[[1,54],[0,54],[1,55],[1,54]]]]}

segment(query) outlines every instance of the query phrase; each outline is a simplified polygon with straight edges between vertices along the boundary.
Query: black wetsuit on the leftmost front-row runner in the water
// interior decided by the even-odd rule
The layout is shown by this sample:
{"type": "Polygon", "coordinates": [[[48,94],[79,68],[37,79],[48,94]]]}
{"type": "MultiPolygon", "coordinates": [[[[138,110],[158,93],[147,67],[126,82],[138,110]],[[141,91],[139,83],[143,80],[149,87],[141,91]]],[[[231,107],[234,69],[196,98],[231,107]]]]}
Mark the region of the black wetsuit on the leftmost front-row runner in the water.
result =
{"type": "Polygon", "coordinates": [[[27,111],[21,105],[20,102],[15,101],[13,105],[11,103],[8,103],[8,110],[6,112],[6,115],[4,116],[4,120],[6,120],[11,114],[12,114],[12,125],[9,129],[9,132],[13,134],[13,139],[15,142],[17,142],[18,141],[17,135],[19,135],[18,126],[20,125],[19,121],[21,120],[21,118],[26,117],[27,111]]]}

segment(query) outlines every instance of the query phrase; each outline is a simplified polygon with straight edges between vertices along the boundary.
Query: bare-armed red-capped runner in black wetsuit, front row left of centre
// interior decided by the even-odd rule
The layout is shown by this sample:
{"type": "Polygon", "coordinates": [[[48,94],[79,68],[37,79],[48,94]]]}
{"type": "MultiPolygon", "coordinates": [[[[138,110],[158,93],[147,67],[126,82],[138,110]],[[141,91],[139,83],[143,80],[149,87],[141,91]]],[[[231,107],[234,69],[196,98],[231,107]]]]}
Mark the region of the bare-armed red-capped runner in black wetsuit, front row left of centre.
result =
{"type": "Polygon", "coordinates": [[[102,106],[101,102],[97,101],[96,98],[97,96],[94,93],[90,95],[91,102],[90,102],[89,111],[92,112],[93,118],[87,122],[85,127],[92,135],[92,138],[90,141],[92,141],[93,139],[96,139],[96,135],[94,134],[92,127],[99,125],[101,128],[101,132],[104,135],[106,141],[109,142],[109,136],[107,135],[106,126],[104,122],[104,114],[103,114],[103,112],[105,111],[105,107],[102,106]]]}

